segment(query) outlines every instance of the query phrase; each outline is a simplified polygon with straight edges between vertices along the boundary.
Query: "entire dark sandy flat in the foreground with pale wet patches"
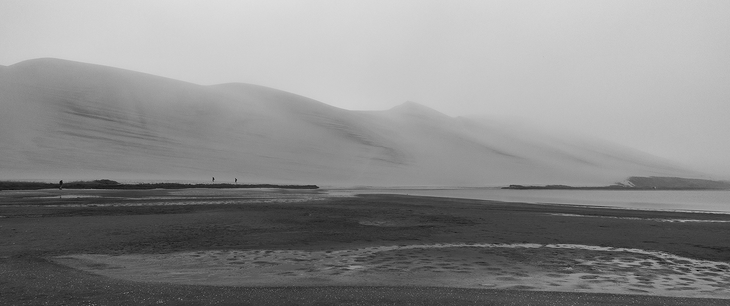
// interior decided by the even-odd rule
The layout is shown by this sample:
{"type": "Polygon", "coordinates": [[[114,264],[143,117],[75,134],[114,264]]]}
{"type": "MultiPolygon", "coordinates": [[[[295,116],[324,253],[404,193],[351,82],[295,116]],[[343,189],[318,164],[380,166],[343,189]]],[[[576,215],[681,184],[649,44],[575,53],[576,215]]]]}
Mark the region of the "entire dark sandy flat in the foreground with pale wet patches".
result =
{"type": "Polygon", "coordinates": [[[0,192],[15,305],[729,305],[730,215],[320,190],[0,192]]]}

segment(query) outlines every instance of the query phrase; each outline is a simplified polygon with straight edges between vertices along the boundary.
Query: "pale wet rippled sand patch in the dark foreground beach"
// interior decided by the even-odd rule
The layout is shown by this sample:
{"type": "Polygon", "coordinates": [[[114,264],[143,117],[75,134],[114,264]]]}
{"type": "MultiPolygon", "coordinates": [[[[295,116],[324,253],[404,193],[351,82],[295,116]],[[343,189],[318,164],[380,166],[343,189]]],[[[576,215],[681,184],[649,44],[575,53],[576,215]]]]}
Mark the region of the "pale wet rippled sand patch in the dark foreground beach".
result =
{"type": "Polygon", "coordinates": [[[58,256],[112,278],[216,286],[450,286],[730,299],[730,264],[637,248],[448,243],[58,256]]]}

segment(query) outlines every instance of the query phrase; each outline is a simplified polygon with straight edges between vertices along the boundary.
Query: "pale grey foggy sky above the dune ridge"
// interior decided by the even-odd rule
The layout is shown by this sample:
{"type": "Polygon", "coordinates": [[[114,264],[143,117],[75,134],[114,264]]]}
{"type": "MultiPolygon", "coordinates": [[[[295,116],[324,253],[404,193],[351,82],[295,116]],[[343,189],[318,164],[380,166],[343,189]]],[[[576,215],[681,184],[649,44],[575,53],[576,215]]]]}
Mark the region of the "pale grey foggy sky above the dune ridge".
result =
{"type": "Polygon", "coordinates": [[[0,65],[63,58],[343,109],[415,101],[730,178],[730,1],[0,1],[0,65]]]}

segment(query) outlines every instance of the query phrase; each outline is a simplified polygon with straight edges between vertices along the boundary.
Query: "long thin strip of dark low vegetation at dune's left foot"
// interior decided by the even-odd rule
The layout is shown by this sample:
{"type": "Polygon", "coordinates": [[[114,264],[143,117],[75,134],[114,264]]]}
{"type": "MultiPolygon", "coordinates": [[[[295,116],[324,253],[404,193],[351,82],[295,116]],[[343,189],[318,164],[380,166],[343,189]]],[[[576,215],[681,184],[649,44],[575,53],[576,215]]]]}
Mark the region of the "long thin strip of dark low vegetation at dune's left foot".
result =
{"type": "Polygon", "coordinates": [[[95,181],[70,181],[60,184],[39,181],[0,181],[0,190],[37,190],[37,189],[187,189],[187,188],[283,188],[318,189],[317,185],[276,185],[276,184],[120,184],[117,181],[100,179],[95,181]]]}

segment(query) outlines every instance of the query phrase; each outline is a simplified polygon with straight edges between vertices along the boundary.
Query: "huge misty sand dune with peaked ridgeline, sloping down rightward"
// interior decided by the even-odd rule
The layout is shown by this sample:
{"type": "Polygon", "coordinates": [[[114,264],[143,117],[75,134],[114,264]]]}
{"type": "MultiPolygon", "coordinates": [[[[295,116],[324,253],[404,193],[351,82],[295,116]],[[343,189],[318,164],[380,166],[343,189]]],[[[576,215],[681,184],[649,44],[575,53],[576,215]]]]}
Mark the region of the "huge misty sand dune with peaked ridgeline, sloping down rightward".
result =
{"type": "Polygon", "coordinates": [[[0,67],[0,179],[499,186],[699,177],[621,146],[515,133],[418,103],[349,111],[69,60],[0,67]]]}

